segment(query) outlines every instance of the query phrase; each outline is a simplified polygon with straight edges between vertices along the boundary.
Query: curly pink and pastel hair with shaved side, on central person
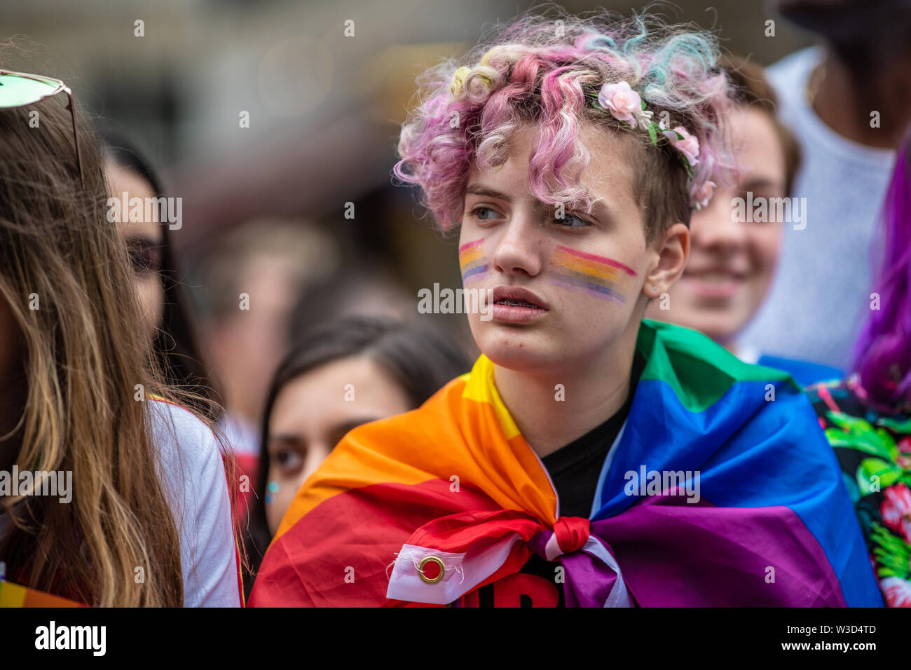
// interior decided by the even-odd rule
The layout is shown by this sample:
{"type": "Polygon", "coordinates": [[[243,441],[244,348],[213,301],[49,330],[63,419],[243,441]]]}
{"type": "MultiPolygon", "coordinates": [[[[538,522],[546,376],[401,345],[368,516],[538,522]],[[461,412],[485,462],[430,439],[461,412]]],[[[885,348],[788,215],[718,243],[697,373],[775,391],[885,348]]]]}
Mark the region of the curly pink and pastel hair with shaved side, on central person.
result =
{"type": "Polygon", "coordinates": [[[449,231],[462,218],[471,166],[502,165],[512,135],[532,121],[540,127],[529,157],[532,194],[590,212],[594,202],[578,185],[591,160],[578,141],[582,121],[589,120],[642,146],[627,160],[644,173],[637,190],[653,191],[640,193],[647,226],[666,223],[651,221],[656,217],[689,222],[691,193],[711,179],[729,181],[732,168],[722,131],[732,88],[718,60],[711,33],[668,26],[652,15],[580,17],[559,9],[557,15],[522,15],[496,26],[492,38],[461,61],[447,60],[418,78],[420,103],[403,125],[394,175],[420,186],[423,204],[449,231]],[[656,121],[681,125],[699,140],[690,181],[674,149],[651,144],[644,130],[624,128],[589,103],[602,85],[619,81],[640,93],[656,121]]]}

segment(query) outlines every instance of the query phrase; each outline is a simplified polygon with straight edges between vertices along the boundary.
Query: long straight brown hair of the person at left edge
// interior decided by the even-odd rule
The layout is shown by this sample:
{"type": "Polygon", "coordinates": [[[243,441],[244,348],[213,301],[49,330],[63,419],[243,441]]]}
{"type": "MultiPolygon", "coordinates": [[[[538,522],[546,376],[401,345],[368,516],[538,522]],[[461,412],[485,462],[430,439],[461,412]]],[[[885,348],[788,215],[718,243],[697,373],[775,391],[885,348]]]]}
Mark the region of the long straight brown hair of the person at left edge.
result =
{"type": "Polygon", "coordinates": [[[83,188],[65,103],[0,110],[0,299],[21,329],[26,398],[0,440],[19,445],[20,471],[72,471],[74,492],[0,500],[12,521],[0,558],[10,578],[83,603],[179,606],[178,521],[135,399],[174,395],[156,382],[126,247],[107,221],[100,149],[80,119],[83,188]]]}

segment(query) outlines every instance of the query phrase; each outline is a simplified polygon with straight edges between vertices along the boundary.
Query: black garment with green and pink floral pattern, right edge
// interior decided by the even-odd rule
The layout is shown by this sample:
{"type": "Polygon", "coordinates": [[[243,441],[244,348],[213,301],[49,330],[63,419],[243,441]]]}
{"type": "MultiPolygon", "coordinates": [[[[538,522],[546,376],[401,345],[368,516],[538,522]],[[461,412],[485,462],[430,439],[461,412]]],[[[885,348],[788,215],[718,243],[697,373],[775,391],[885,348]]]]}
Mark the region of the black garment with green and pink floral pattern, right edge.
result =
{"type": "Polygon", "coordinates": [[[885,603],[911,607],[911,407],[875,407],[857,376],[806,392],[841,465],[885,603]]]}

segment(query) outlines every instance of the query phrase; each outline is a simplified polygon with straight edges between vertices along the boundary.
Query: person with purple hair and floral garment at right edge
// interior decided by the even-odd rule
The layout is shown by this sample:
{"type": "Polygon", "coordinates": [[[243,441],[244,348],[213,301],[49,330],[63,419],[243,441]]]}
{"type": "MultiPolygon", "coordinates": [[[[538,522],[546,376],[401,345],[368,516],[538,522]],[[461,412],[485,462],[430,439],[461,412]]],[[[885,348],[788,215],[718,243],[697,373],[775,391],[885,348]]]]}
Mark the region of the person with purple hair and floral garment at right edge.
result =
{"type": "Polygon", "coordinates": [[[911,135],[882,216],[875,302],[854,374],[807,389],[835,450],[885,603],[911,607],[911,135]]]}

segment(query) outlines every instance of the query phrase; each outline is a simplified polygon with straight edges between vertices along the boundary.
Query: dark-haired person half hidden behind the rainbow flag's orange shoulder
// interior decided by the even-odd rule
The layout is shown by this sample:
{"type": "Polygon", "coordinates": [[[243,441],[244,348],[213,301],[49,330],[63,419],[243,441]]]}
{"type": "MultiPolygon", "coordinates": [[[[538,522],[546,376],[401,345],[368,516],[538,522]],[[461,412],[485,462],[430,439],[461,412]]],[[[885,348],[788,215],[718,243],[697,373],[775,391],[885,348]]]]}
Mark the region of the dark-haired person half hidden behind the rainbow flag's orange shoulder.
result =
{"type": "MultiPolygon", "coordinates": [[[[349,430],[419,407],[470,367],[449,337],[388,316],[348,316],[303,333],[266,397],[251,576],[294,494],[349,430]]],[[[249,592],[252,579],[245,584],[249,592]]]]}

